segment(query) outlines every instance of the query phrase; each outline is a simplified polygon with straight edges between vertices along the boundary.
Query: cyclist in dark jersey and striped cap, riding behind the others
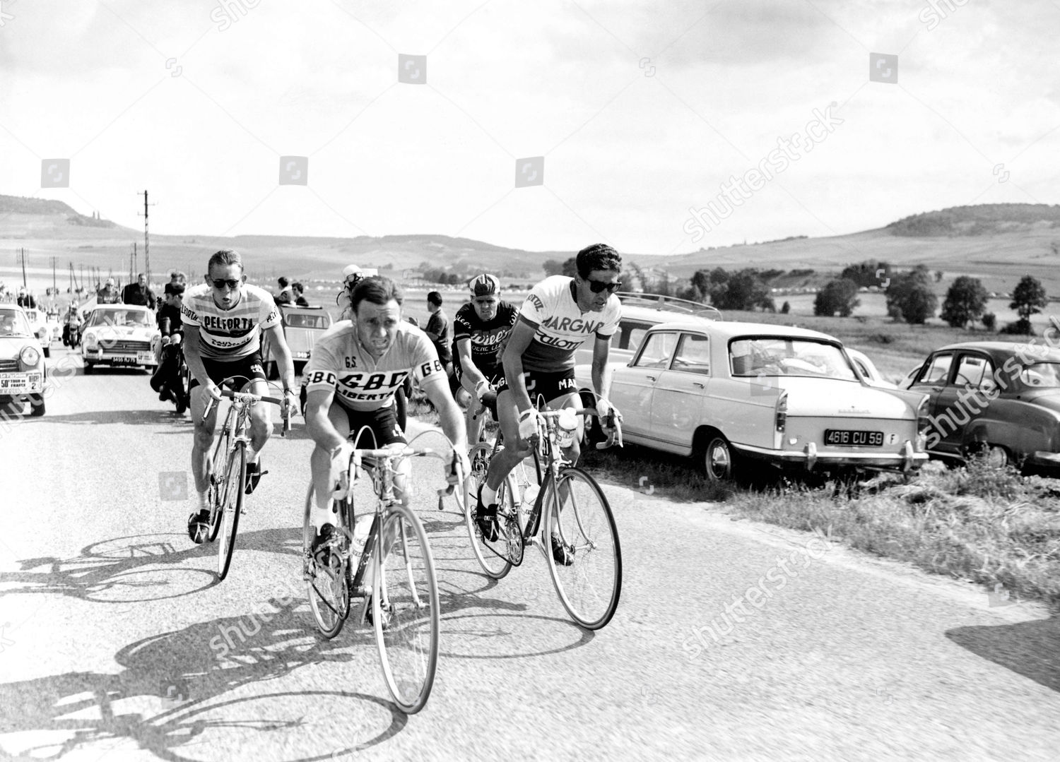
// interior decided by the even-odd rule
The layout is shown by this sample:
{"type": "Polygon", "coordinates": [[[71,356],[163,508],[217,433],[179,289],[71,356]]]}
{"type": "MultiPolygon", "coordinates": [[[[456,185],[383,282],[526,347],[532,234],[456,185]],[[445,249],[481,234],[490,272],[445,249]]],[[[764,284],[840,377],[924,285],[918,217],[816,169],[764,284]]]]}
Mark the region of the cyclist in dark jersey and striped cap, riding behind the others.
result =
{"type": "Polygon", "coordinates": [[[500,281],[482,273],[469,284],[471,301],[453,318],[453,370],[457,383],[472,395],[465,427],[467,441],[477,442],[482,418],[476,415],[482,395],[493,391],[494,380],[504,375],[500,348],[518,317],[514,304],[500,300],[500,281]]]}

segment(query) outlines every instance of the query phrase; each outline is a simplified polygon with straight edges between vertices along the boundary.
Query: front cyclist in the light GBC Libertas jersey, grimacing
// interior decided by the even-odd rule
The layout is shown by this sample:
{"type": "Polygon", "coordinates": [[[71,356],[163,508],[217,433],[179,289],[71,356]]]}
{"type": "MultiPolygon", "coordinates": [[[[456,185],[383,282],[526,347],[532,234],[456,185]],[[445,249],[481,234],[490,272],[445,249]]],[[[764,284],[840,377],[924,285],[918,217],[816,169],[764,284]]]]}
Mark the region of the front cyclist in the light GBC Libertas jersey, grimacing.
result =
{"type": "MultiPolygon", "coordinates": [[[[310,514],[316,528],[314,556],[334,533],[332,495],[354,447],[400,448],[406,444],[391,405],[394,390],[406,376],[416,378],[438,409],[442,430],[453,442],[454,468],[459,460],[464,474],[470,471],[460,409],[449,393],[445,369],[427,335],[402,320],[402,301],[401,289],[389,278],[360,280],[350,294],[353,320],[329,329],[305,366],[310,379],[305,427],[317,444],[310,458],[316,494],[310,514]],[[350,432],[358,432],[363,426],[371,435],[366,432],[351,443],[350,432]]],[[[399,468],[395,493],[408,504],[412,466],[406,459],[399,468]]],[[[370,521],[372,517],[365,514],[360,518],[370,521]]],[[[326,560],[318,561],[326,564],[326,560]]]]}

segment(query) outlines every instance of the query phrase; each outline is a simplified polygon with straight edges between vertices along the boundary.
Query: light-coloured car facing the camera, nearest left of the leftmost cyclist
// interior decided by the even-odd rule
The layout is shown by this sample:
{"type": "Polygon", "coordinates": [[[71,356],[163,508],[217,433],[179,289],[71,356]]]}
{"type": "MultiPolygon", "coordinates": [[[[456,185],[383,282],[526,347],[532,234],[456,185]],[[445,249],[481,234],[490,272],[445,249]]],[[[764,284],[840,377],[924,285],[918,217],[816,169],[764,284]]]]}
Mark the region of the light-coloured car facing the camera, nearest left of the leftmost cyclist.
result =
{"type": "Polygon", "coordinates": [[[88,314],[81,332],[81,357],[86,374],[98,365],[147,371],[158,365],[151,347],[159,331],[155,313],[147,307],[101,304],[88,314]]]}

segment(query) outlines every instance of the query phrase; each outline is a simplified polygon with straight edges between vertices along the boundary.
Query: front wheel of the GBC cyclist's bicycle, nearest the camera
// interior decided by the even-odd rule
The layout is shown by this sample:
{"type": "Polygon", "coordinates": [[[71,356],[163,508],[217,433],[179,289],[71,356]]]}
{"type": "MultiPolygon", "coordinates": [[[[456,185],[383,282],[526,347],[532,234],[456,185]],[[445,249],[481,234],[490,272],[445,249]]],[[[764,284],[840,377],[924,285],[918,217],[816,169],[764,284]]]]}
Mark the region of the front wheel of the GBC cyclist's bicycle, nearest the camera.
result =
{"type": "Polygon", "coordinates": [[[387,688],[402,711],[414,714],[427,703],[438,666],[438,582],[416,514],[395,504],[385,516],[374,550],[372,624],[387,688]]]}

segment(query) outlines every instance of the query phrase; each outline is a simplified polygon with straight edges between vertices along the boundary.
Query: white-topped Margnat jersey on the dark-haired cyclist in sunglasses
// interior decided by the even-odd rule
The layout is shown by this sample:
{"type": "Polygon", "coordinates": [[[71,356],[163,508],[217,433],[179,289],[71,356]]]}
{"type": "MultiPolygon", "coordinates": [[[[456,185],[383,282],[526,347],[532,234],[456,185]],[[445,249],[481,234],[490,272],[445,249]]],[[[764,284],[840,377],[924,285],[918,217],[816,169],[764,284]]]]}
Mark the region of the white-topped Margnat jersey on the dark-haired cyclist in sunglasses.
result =
{"type": "Polygon", "coordinates": [[[530,289],[519,320],[534,329],[523,353],[523,370],[554,373],[575,367],[575,351],[589,336],[610,339],[618,330],[622,305],[614,294],[599,313],[583,313],[575,298],[575,279],[550,276],[530,289]]]}

